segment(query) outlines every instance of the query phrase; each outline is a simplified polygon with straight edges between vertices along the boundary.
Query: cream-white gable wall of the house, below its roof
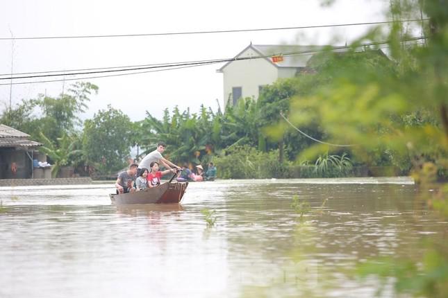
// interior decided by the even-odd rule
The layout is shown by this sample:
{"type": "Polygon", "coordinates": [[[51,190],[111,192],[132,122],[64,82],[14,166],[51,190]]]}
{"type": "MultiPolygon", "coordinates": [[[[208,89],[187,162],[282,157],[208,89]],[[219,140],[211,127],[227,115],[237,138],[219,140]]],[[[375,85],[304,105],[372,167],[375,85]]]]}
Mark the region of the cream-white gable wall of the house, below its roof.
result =
{"type": "MultiPolygon", "coordinates": [[[[260,55],[254,49],[247,49],[238,58],[260,55]]],[[[226,106],[232,87],[242,87],[242,97],[258,98],[258,86],[272,84],[279,78],[277,67],[265,59],[234,61],[226,65],[224,78],[224,107],[226,106]]],[[[295,70],[294,70],[295,73],[295,70]]],[[[294,74],[292,74],[294,76],[294,74]]],[[[232,97],[230,96],[230,103],[232,97]]]]}

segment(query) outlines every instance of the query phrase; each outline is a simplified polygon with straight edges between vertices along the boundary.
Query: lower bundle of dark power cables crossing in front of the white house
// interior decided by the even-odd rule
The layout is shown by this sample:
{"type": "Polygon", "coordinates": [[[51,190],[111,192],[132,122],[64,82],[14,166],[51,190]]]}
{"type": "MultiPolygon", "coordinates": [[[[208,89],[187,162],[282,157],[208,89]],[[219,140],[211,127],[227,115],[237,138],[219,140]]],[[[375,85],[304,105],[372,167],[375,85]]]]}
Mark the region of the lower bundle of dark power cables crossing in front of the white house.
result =
{"type": "MultiPolygon", "coordinates": [[[[424,40],[426,37],[409,37],[404,40],[401,40],[401,42],[408,42],[408,41],[417,41],[417,40],[424,40]]],[[[365,47],[365,46],[374,46],[379,44],[387,44],[389,41],[381,41],[381,42],[370,42],[365,44],[359,44],[358,48],[365,47]]],[[[340,49],[350,49],[351,46],[332,46],[331,51],[337,51],[340,49]]],[[[293,55],[309,55],[311,53],[319,53],[325,50],[319,49],[319,50],[307,50],[307,51],[299,51],[299,52],[291,52],[291,53],[279,53],[279,55],[283,56],[293,56],[293,55]]],[[[276,55],[276,54],[273,54],[276,55]]],[[[12,83],[2,83],[2,85],[22,85],[22,84],[32,84],[32,83],[38,83],[38,82],[60,82],[63,80],[84,80],[84,79],[91,79],[91,78],[107,78],[111,76],[128,76],[131,74],[138,74],[138,73],[149,73],[149,72],[155,72],[155,71],[142,71],[147,69],[160,69],[160,71],[165,70],[172,70],[172,69],[182,69],[186,67],[196,67],[201,65],[207,65],[207,64],[217,64],[222,62],[231,62],[231,61],[240,61],[240,60],[255,60],[260,58],[269,58],[273,55],[258,55],[258,56],[251,56],[251,57],[242,57],[242,58],[227,58],[227,59],[217,59],[217,60],[200,60],[197,62],[180,62],[180,63],[167,63],[167,64],[154,64],[148,66],[148,67],[135,67],[135,68],[127,68],[127,69],[110,69],[107,71],[89,71],[89,72],[78,72],[78,73],[53,73],[48,75],[38,75],[38,76],[20,76],[20,77],[8,77],[8,78],[0,78],[0,80],[13,80],[13,79],[23,79],[23,78],[44,78],[44,77],[53,77],[53,76],[78,76],[78,75],[85,75],[85,74],[94,74],[94,73],[112,73],[112,72],[124,72],[124,71],[138,71],[133,73],[119,73],[115,75],[110,76],[92,76],[88,78],[64,78],[62,80],[43,80],[43,81],[34,81],[34,82],[12,82],[12,83]],[[170,67],[170,68],[168,68],[170,67]]]]}

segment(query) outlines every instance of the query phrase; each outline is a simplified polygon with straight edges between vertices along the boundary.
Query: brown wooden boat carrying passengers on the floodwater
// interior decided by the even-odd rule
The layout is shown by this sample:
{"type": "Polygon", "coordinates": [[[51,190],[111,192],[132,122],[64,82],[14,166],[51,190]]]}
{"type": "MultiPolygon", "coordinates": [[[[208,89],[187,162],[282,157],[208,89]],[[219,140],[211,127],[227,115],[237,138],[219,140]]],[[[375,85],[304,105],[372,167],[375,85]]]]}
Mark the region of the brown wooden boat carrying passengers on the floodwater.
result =
{"type": "Polygon", "coordinates": [[[160,204],[179,203],[182,200],[188,182],[166,182],[151,189],[135,191],[135,193],[110,194],[112,204],[160,204]]]}

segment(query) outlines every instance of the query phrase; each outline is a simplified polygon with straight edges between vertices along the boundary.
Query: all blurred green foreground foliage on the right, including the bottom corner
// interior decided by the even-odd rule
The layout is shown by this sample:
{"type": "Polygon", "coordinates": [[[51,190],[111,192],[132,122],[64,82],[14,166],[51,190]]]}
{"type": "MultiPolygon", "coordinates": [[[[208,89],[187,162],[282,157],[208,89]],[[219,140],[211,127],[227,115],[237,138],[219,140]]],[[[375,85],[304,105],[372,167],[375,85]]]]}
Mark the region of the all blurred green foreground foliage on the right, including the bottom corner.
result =
{"type": "MultiPolygon", "coordinates": [[[[313,94],[297,95],[290,106],[290,119],[299,127],[319,119],[331,143],[357,144],[351,148],[357,159],[368,164],[389,159],[401,169],[411,170],[420,186],[420,200],[446,221],[448,1],[391,0],[390,8],[392,19],[422,15],[429,21],[396,22],[388,31],[372,29],[352,44],[349,53],[326,55],[316,69],[326,69],[331,80],[313,94]],[[421,34],[420,42],[404,42],[421,34]],[[374,40],[388,41],[390,62],[375,56],[376,46],[363,49],[370,59],[356,58],[360,57],[358,44],[374,40]],[[372,67],[370,62],[376,59],[384,62],[372,67]]],[[[327,150],[322,144],[311,146],[301,152],[301,158],[317,157],[327,150]]],[[[441,237],[421,248],[422,256],[364,262],[358,274],[374,274],[383,286],[392,281],[396,293],[447,297],[447,241],[441,237]]]]}

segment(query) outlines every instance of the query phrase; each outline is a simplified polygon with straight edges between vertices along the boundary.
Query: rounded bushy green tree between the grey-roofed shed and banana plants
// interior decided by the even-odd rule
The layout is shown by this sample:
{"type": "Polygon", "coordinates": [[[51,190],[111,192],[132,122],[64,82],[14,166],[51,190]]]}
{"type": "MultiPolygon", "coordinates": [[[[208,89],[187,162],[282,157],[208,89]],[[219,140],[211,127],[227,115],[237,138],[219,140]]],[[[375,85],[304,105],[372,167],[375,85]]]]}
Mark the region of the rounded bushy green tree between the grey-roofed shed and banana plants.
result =
{"type": "Polygon", "coordinates": [[[126,166],[134,142],[134,125],[128,116],[110,105],[84,122],[83,152],[87,165],[101,174],[126,166]]]}

